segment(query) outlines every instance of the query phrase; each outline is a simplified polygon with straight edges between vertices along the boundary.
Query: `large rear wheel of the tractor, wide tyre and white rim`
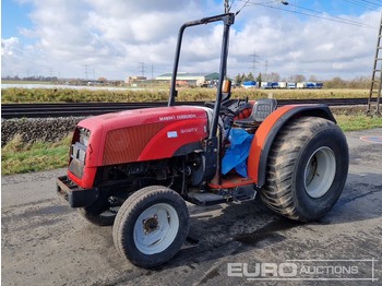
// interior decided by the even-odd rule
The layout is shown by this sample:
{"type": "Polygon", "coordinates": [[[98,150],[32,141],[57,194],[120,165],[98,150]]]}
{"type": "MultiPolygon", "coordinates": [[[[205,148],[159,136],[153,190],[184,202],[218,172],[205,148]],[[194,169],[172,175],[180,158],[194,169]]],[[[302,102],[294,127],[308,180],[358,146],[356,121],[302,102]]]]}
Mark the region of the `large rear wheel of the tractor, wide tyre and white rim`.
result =
{"type": "Polygon", "coordinates": [[[338,200],[348,160],[345,135],[334,122],[317,117],[294,119],[273,143],[261,198],[289,218],[318,219],[338,200]]]}

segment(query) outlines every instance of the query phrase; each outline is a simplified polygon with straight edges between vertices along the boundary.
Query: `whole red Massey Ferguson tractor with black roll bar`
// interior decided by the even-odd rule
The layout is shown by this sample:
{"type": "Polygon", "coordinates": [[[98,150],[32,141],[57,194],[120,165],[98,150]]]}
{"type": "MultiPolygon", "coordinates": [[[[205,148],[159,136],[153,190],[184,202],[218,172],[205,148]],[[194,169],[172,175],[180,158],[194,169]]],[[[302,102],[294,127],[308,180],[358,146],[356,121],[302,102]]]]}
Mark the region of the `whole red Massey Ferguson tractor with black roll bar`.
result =
{"type": "Polygon", "coordinates": [[[229,99],[234,21],[227,13],[182,25],[167,107],[88,118],[74,131],[58,192],[91,223],[114,224],[118,252],[138,266],[160,265],[179,251],[189,229],[184,201],[242,202],[259,192],[274,212],[308,222],[324,216],[343,191],[348,147],[327,106],[229,99]],[[224,34],[216,102],[175,106],[184,29],[217,21],[224,34]],[[228,154],[240,171],[227,170],[228,154]]]}

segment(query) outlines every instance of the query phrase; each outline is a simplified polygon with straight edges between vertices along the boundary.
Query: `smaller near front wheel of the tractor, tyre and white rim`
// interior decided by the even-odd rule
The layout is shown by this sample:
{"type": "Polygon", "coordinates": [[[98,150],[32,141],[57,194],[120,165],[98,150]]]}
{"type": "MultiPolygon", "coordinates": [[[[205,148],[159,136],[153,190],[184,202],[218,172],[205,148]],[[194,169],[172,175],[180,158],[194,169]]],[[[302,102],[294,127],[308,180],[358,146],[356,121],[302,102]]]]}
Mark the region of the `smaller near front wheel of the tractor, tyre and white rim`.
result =
{"type": "Polygon", "coordinates": [[[170,260],[183,245],[189,213],[183,199],[160,186],[143,188],[119,210],[112,229],[118,252],[140,267],[170,260]]]}

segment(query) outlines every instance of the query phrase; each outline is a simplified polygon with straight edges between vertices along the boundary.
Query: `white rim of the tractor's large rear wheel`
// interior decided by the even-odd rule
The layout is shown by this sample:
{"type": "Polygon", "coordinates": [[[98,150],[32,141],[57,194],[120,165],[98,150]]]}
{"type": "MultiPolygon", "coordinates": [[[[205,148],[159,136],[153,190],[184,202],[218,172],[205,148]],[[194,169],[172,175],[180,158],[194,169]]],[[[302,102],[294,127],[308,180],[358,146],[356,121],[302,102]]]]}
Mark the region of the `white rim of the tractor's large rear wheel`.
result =
{"type": "Polygon", "coordinates": [[[326,146],[320,147],[310,156],[305,170],[305,187],[309,196],[323,196],[331,188],[335,176],[334,152],[326,146]]]}

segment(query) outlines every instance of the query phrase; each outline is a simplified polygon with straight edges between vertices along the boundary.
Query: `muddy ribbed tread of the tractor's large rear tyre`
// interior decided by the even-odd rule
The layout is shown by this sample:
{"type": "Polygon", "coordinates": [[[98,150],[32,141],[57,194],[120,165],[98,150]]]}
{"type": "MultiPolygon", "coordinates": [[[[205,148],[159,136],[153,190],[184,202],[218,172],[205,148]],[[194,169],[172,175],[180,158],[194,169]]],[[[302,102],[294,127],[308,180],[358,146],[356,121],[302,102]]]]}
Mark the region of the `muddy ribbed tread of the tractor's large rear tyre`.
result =
{"type": "Polygon", "coordinates": [[[274,212],[291,219],[311,221],[300,212],[291,191],[295,165],[309,141],[326,129],[339,128],[323,118],[300,117],[287,122],[277,134],[270,151],[266,183],[260,192],[262,201],[274,212]]]}

